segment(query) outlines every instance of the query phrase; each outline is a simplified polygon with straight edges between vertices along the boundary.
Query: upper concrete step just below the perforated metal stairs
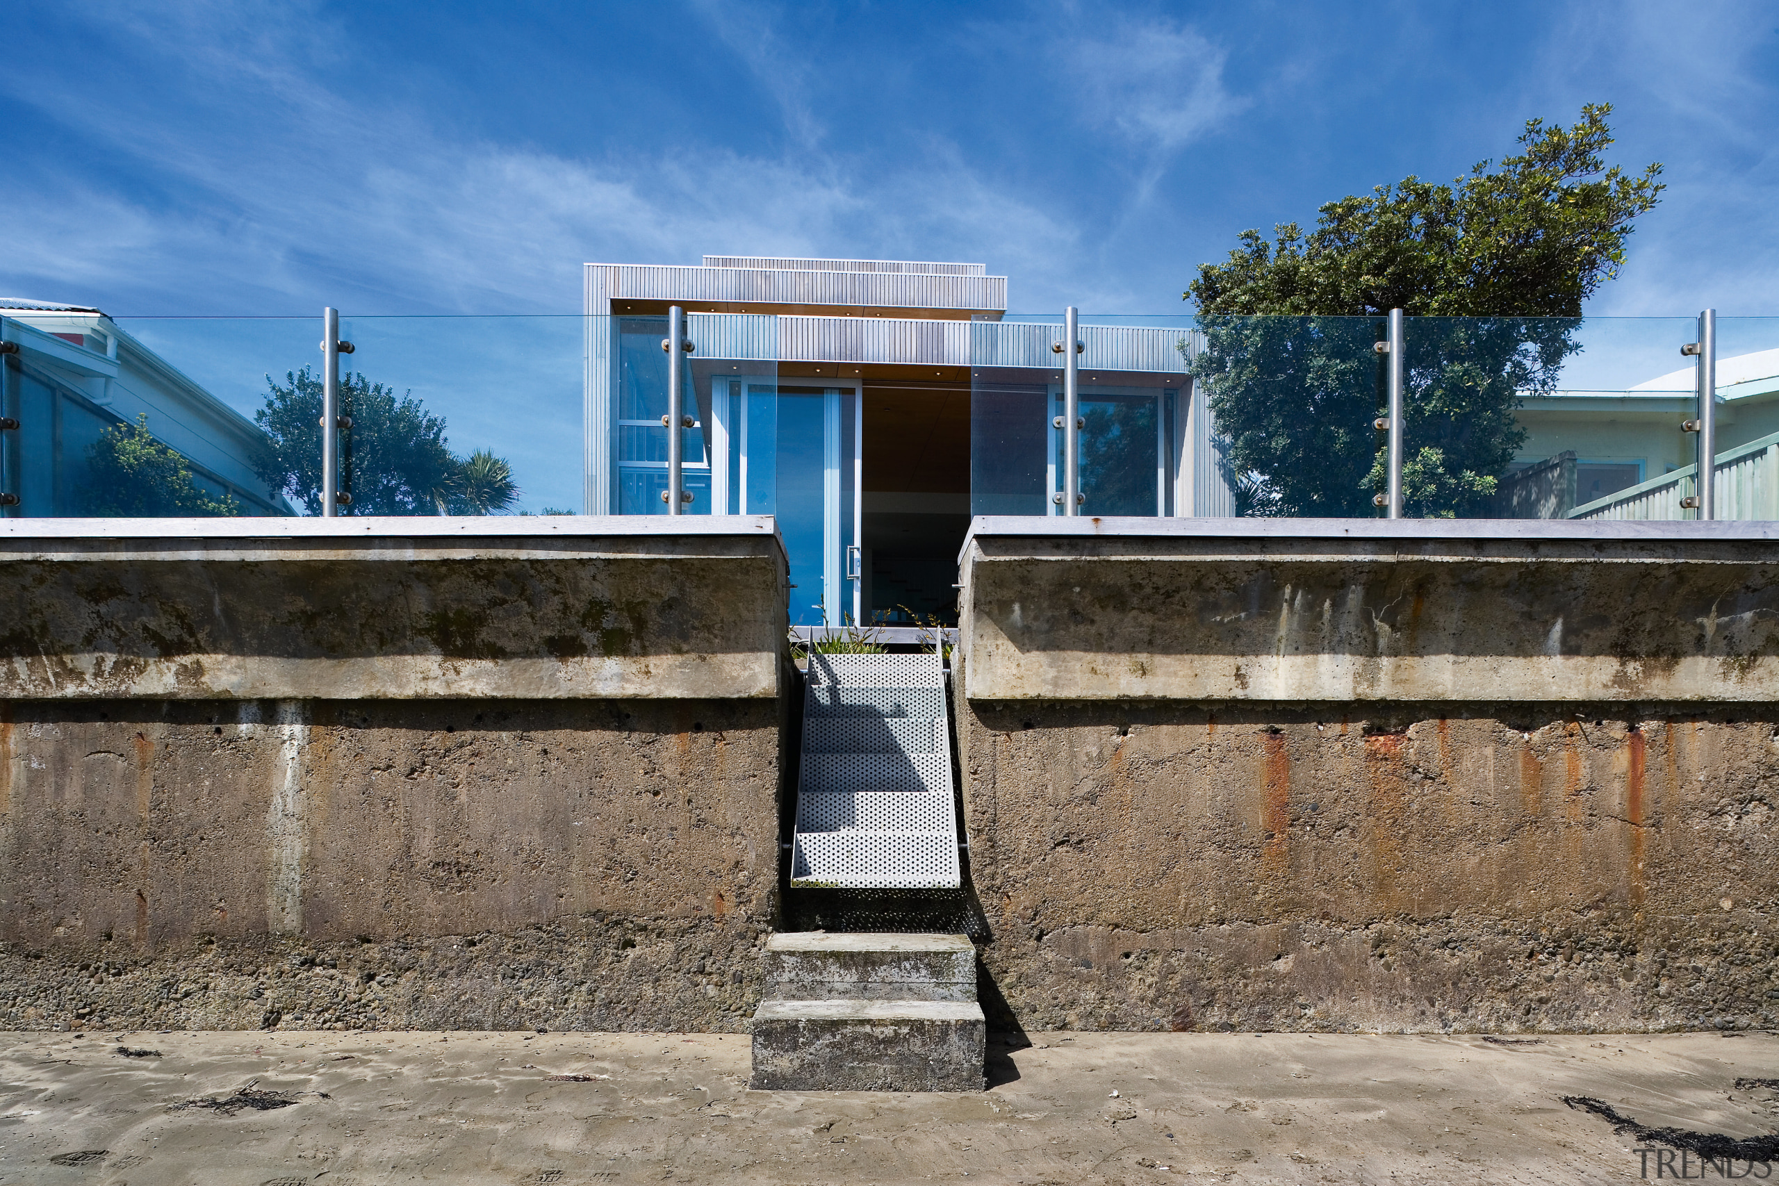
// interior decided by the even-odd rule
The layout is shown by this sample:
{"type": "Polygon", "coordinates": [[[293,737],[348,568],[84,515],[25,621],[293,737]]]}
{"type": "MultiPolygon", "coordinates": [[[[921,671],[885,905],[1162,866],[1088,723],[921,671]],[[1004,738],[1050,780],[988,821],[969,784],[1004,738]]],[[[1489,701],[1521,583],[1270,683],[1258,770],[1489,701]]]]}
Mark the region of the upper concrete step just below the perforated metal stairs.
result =
{"type": "Polygon", "coordinates": [[[765,973],[769,1001],[977,999],[968,935],[772,935],[765,973]]]}

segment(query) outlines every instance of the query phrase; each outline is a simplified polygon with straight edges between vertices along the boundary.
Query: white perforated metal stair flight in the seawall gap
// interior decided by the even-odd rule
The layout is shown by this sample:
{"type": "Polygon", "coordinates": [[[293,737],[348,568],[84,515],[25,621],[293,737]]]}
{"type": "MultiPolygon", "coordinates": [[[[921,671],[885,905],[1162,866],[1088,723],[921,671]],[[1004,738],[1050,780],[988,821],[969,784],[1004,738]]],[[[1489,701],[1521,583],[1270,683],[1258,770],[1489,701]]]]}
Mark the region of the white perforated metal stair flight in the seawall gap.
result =
{"type": "Polygon", "coordinates": [[[792,885],[955,889],[957,811],[938,654],[811,654],[792,885]]]}

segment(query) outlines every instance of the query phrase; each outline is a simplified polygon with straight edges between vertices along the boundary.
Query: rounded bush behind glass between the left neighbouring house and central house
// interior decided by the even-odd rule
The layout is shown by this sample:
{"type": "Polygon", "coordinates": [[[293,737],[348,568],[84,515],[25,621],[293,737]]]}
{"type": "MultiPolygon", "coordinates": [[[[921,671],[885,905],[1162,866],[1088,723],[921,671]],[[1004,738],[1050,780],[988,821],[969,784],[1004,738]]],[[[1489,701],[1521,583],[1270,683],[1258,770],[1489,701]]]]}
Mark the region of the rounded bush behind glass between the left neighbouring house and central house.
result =
{"type": "MultiPolygon", "coordinates": [[[[278,493],[322,509],[322,379],[308,366],[267,377],[270,391],[254,420],[267,445],[254,468],[278,493]]],[[[468,459],[445,443],[445,418],[413,397],[365,375],[340,375],[340,485],[352,496],[342,514],[498,514],[518,501],[512,468],[487,450],[468,459]]]]}

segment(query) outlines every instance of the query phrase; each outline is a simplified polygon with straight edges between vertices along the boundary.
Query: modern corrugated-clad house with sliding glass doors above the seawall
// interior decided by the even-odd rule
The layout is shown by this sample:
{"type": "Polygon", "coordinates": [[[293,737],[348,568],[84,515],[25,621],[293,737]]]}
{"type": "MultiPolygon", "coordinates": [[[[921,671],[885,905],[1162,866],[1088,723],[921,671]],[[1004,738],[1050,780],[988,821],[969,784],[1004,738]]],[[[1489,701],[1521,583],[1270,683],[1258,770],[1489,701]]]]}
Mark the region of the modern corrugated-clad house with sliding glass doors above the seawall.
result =
{"type": "MultiPolygon", "coordinates": [[[[774,514],[792,621],[950,617],[973,514],[1053,514],[1057,324],[980,263],[585,265],[585,509],[662,514],[667,309],[687,313],[692,514],[774,514]]],[[[1083,325],[1083,514],[1233,514],[1192,334],[1083,325]],[[1187,349],[1183,349],[1187,343],[1187,349]]]]}

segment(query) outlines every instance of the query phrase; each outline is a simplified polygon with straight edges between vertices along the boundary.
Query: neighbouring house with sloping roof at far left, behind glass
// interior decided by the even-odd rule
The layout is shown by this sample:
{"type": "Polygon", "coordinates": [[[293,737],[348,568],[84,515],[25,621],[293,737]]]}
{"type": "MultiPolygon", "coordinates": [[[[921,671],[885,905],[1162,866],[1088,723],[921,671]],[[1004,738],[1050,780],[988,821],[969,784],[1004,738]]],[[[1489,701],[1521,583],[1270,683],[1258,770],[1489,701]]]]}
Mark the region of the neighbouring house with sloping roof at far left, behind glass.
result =
{"type": "Polygon", "coordinates": [[[260,429],[121,329],[100,309],[0,297],[4,411],[18,421],[4,441],[11,517],[89,514],[87,459],[105,429],[148,416],[148,430],[176,450],[192,480],[228,494],[242,514],[290,514],[253,469],[260,429]]]}

